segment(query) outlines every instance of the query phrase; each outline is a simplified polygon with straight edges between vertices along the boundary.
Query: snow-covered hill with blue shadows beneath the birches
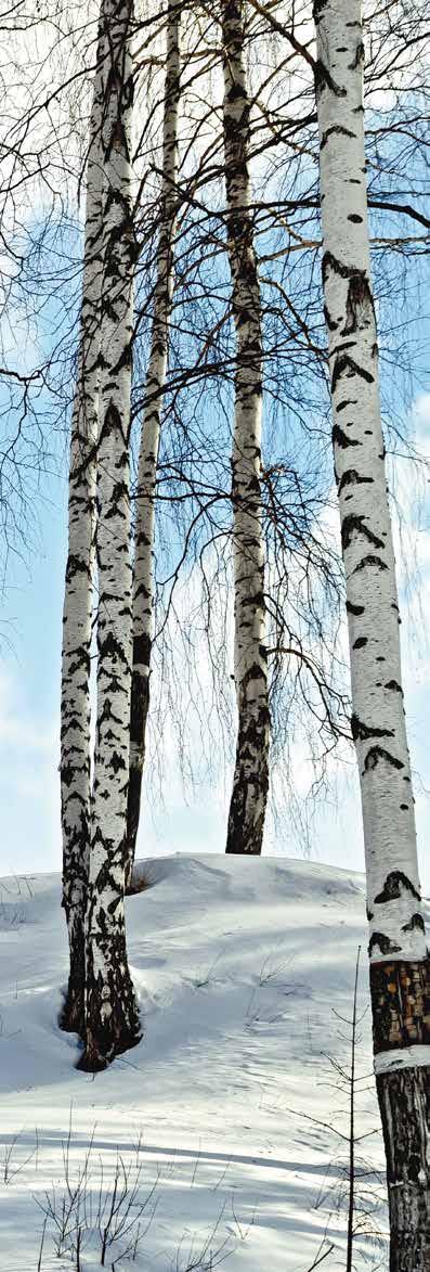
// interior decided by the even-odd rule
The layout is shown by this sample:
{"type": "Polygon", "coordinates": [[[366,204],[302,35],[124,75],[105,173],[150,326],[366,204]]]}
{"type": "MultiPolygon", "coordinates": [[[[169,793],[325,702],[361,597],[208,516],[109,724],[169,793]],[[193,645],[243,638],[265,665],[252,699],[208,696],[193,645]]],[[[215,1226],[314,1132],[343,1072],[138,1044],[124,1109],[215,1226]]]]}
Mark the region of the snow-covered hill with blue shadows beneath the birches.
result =
{"type": "MultiPolygon", "coordinates": [[[[214,855],[137,873],[148,887],[127,901],[127,930],[144,1039],[95,1079],[57,1028],[60,878],[0,880],[1,1272],[95,1272],[102,1255],[117,1272],[307,1272],[323,1255],[326,1272],[345,1268],[336,1065],[349,1065],[340,1018],[359,944],[360,1015],[368,1002],[363,876],[214,855]]],[[[359,1034],[355,1252],[375,1269],[369,1011],[359,1034]]]]}

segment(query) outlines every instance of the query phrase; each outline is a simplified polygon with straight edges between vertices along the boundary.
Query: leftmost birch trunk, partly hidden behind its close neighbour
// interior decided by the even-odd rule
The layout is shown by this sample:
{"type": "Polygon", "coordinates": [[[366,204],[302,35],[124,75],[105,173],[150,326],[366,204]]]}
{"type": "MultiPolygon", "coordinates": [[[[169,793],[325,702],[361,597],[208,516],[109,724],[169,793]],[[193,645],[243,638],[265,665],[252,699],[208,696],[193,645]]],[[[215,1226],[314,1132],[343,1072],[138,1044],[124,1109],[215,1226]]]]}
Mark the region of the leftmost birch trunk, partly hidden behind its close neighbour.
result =
{"type": "Polygon", "coordinates": [[[90,841],[89,679],[102,294],[103,53],[104,41],[101,33],[87,168],[80,347],[71,418],[69,553],[62,618],[60,764],[62,906],[69,931],[70,976],[61,1025],[64,1029],[79,1033],[84,1024],[84,930],[90,841]]]}

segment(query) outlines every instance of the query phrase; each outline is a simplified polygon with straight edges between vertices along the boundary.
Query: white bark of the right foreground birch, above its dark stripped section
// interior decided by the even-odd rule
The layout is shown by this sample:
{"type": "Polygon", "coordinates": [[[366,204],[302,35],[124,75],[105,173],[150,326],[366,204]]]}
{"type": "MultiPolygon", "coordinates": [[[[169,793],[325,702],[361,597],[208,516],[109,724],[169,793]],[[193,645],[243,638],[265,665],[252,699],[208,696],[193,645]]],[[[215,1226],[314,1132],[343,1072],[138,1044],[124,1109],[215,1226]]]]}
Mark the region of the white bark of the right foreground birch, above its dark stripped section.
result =
{"type": "Polygon", "coordinates": [[[361,782],[370,958],[425,958],[378,384],[359,0],[317,4],[323,285],[361,782]]]}

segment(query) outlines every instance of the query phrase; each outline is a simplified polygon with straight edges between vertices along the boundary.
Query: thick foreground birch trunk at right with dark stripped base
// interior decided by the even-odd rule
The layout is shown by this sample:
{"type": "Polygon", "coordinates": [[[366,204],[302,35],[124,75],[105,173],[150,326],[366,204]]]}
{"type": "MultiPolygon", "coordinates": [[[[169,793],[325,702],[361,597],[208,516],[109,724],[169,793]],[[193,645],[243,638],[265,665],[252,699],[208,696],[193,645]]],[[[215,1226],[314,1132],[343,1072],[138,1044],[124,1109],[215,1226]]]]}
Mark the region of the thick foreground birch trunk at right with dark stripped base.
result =
{"type": "Polygon", "coordinates": [[[314,0],[323,287],[364,820],[391,1272],[430,1269],[429,960],[370,282],[359,0],[314,0]]]}

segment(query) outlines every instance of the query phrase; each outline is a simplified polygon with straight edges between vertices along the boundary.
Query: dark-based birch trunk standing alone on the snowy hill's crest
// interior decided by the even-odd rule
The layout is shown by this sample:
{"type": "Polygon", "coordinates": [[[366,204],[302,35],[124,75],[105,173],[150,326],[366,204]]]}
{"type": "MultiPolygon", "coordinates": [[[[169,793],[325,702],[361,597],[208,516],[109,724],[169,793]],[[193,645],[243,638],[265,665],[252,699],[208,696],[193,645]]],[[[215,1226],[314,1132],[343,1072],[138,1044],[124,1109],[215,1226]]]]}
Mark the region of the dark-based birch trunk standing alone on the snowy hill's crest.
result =
{"type": "Polygon", "coordinates": [[[242,0],[223,0],[228,253],[237,332],[232,455],[234,681],[239,725],[226,852],[260,854],[268,791],[270,715],[261,511],[261,300],[249,211],[249,111],[242,0]]]}

